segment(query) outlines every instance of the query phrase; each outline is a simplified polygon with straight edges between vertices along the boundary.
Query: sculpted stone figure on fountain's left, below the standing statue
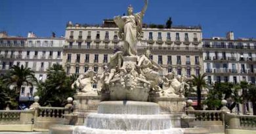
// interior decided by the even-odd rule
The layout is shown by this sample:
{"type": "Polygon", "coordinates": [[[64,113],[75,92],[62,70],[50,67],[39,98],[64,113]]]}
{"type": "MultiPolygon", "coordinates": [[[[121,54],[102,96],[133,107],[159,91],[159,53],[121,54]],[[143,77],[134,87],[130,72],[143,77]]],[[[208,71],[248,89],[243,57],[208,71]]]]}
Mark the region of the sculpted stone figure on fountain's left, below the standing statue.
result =
{"type": "Polygon", "coordinates": [[[110,57],[110,63],[108,66],[108,69],[110,69],[110,74],[108,78],[106,79],[105,84],[110,84],[110,80],[114,77],[115,73],[118,71],[118,69],[121,67],[121,64],[123,63],[122,55],[123,52],[119,51],[117,48],[114,50],[114,54],[110,57]]]}

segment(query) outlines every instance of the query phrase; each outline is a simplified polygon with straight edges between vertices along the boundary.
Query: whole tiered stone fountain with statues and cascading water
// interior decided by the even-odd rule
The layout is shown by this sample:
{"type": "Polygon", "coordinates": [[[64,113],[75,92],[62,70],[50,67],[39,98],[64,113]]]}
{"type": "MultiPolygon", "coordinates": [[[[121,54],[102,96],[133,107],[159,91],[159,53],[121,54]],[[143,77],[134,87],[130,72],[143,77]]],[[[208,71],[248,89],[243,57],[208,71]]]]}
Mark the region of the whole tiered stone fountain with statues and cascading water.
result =
{"type": "Polygon", "coordinates": [[[108,67],[104,67],[100,95],[91,87],[96,82],[93,71],[79,76],[72,85],[80,89],[74,96],[72,115],[77,116],[77,126],[52,126],[50,133],[184,133],[186,78],[175,78],[173,73],[161,78],[158,71],[162,68],[150,59],[150,50],[137,55],[147,5],[145,0],[142,11],[136,14],[129,6],[128,16],[114,18],[124,49],[115,49],[108,67]]]}

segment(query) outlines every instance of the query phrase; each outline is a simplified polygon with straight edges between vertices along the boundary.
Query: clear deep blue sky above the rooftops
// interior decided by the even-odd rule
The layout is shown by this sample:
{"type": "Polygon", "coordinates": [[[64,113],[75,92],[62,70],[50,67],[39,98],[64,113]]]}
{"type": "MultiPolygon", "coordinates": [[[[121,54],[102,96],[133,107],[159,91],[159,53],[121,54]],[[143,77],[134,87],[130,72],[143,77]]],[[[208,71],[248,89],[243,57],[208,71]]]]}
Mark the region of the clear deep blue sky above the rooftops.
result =
{"type": "MultiPolygon", "coordinates": [[[[0,31],[26,37],[65,34],[66,23],[102,24],[127,12],[133,5],[139,12],[144,0],[0,0],[0,31]]],[[[236,38],[256,38],[256,0],[149,0],[146,24],[202,25],[203,38],[224,37],[234,31],[236,38]]]]}

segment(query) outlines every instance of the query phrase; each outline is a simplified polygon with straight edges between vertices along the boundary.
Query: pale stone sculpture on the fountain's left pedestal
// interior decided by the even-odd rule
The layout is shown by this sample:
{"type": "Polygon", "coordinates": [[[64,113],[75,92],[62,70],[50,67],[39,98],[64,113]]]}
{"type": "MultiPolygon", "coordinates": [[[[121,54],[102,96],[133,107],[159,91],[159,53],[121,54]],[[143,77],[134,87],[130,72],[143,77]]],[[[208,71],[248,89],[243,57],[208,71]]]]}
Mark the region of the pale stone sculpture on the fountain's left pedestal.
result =
{"type": "Polygon", "coordinates": [[[84,75],[79,75],[77,80],[75,80],[74,84],[72,84],[72,88],[75,86],[81,90],[84,95],[98,95],[96,90],[93,89],[92,84],[96,83],[95,71],[89,69],[84,75]]]}

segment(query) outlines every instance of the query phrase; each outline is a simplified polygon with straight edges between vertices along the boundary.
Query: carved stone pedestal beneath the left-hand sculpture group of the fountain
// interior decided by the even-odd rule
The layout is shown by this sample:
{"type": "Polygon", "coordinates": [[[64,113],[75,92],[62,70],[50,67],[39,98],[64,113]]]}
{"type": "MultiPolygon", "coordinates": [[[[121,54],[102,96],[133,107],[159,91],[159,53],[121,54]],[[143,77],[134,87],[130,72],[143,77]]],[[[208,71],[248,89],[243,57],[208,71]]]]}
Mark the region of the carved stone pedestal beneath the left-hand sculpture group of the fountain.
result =
{"type": "Polygon", "coordinates": [[[88,114],[97,112],[98,104],[100,103],[101,96],[80,94],[80,95],[75,95],[74,98],[75,98],[74,114],[77,114],[76,125],[83,125],[84,120],[88,114]]]}

